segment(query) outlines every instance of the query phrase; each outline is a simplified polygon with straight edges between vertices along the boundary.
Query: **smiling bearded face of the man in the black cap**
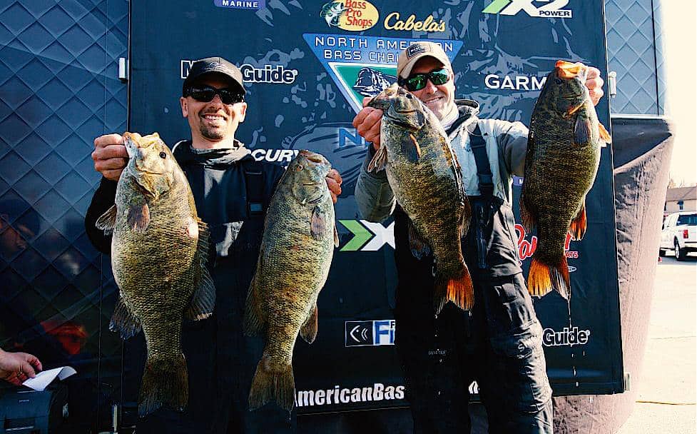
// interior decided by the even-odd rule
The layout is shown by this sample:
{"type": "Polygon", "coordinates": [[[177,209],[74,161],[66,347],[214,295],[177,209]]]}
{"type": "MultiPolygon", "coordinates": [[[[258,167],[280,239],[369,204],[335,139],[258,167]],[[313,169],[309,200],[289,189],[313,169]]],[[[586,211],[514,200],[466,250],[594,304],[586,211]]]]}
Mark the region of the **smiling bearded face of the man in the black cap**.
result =
{"type": "MultiPolygon", "coordinates": [[[[230,81],[218,74],[207,74],[201,77],[193,87],[211,86],[215,89],[233,87],[230,81]]],[[[245,120],[247,103],[223,104],[220,95],[215,95],[211,101],[196,101],[191,96],[181,98],[181,113],[187,118],[191,127],[194,147],[212,148],[221,141],[235,138],[235,131],[240,122],[245,120]]]]}

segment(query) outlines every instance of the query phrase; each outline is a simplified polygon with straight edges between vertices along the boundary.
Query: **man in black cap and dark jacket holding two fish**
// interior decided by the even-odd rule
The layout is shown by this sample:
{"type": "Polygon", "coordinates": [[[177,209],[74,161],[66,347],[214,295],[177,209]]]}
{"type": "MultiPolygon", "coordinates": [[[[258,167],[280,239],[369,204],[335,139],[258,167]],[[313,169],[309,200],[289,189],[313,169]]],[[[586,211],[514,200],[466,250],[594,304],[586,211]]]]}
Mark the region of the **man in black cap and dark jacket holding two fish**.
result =
{"type": "MultiPolygon", "coordinates": [[[[182,345],[189,373],[189,400],[183,413],[161,409],[138,421],[144,433],[293,433],[295,412],[275,403],[250,412],[248,392],[263,350],[262,338],[243,335],[245,298],[256,266],[266,209],[283,168],[255,161],[235,138],[247,103],[240,70],[220,57],[195,61],[182,87],[181,111],[191,139],[173,146],[186,173],[200,218],[210,229],[210,273],[215,281],[213,316],[185,321],[182,345]]],[[[128,154],[123,138],[95,139],[95,170],[103,178],[86,216],[86,230],[103,253],[111,238],[94,225],[113,204],[116,181],[128,154]]],[[[340,194],[337,171],[327,176],[332,198],[340,194]]],[[[145,345],[142,334],[126,341],[131,353],[128,384],[140,384],[145,345]]],[[[128,363],[128,362],[127,362],[128,363]]]]}

